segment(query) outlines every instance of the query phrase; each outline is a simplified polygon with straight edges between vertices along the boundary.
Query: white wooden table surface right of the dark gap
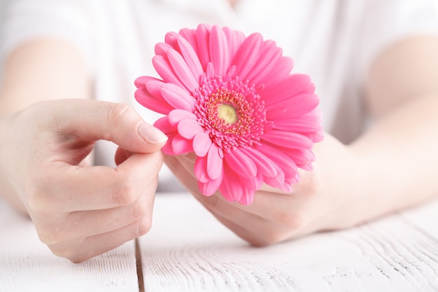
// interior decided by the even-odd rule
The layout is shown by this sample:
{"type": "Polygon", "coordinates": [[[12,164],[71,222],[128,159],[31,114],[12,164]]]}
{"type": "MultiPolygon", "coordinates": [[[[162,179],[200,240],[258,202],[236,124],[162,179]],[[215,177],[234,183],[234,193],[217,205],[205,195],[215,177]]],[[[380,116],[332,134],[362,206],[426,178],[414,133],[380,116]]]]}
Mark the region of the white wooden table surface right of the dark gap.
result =
{"type": "Polygon", "coordinates": [[[159,195],[140,246],[145,291],[438,291],[438,242],[400,214],[254,248],[192,197],[159,195]]]}

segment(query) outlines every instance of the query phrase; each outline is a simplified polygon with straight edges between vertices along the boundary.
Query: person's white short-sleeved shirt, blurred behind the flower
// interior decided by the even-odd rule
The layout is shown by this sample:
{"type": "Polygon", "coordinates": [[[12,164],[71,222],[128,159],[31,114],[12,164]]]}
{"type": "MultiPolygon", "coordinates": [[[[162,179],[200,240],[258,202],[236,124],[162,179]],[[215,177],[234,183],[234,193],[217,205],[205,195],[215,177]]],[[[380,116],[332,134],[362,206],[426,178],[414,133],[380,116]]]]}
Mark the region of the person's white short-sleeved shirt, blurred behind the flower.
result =
{"type": "MultiPolygon", "coordinates": [[[[211,23],[260,32],[316,84],[323,127],[346,143],[365,127],[362,81],[376,55],[414,34],[438,34],[434,0],[15,0],[6,15],[3,55],[38,36],[83,51],[96,78],[95,98],[123,102],[153,123],[134,99],[134,79],[156,76],[151,59],[164,34],[211,23]]],[[[115,147],[98,144],[97,160],[115,147]]],[[[166,183],[164,183],[166,184],[166,183]]]]}

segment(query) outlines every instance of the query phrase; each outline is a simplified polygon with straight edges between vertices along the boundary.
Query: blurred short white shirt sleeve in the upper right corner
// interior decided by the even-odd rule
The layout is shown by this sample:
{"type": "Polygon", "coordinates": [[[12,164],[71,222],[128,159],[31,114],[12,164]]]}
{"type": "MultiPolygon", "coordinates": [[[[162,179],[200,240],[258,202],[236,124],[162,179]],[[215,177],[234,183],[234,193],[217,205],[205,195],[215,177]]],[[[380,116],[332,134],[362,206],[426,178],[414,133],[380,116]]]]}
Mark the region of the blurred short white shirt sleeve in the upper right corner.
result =
{"type": "Polygon", "coordinates": [[[362,74],[379,53],[397,41],[421,34],[438,35],[436,0],[367,0],[364,18],[359,56],[362,74]]]}

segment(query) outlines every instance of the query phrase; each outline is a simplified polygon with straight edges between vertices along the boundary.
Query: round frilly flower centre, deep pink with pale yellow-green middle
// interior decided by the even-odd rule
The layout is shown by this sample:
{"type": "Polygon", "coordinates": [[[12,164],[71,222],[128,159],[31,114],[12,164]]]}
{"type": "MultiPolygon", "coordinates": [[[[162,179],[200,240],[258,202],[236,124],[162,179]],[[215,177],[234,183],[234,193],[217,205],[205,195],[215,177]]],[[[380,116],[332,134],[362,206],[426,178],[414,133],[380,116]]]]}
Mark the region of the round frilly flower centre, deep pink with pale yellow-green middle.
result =
{"type": "Polygon", "coordinates": [[[237,76],[204,76],[193,97],[199,125],[222,150],[259,143],[268,122],[254,85],[239,81],[237,76]]]}

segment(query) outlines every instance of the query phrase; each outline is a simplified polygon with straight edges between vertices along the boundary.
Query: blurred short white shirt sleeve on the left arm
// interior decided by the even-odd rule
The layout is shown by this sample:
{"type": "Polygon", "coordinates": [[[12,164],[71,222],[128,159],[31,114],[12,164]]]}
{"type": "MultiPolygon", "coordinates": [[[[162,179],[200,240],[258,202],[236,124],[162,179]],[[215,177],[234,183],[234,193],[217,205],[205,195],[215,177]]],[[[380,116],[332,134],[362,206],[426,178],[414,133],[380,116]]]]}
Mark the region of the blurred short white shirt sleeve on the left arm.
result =
{"type": "Polygon", "coordinates": [[[87,19],[87,1],[14,0],[6,8],[1,28],[0,53],[5,57],[20,44],[56,37],[69,41],[92,64],[92,32],[87,19]]]}

